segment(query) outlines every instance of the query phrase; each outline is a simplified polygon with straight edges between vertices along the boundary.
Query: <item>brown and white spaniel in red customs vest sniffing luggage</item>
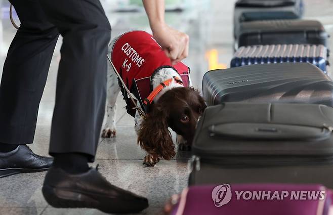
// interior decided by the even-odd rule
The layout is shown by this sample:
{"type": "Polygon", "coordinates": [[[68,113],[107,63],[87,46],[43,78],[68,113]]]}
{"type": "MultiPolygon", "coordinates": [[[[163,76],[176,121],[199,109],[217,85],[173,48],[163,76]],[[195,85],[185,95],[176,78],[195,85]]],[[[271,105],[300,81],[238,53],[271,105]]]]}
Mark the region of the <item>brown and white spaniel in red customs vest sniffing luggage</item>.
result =
{"type": "Polygon", "coordinates": [[[190,146],[197,120],[206,107],[199,92],[191,86],[190,69],[181,62],[172,65],[152,35],[145,31],[130,31],[112,40],[108,56],[137,99],[137,105],[145,110],[146,118],[140,117],[138,111],[131,111],[133,102],[109,65],[102,137],[116,135],[116,99],[121,90],[128,112],[135,118],[138,144],[147,153],[144,164],[154,166],[159,158],[169,160],[175,156],[168,127],[177,134],[179,149],[190,146]]]}

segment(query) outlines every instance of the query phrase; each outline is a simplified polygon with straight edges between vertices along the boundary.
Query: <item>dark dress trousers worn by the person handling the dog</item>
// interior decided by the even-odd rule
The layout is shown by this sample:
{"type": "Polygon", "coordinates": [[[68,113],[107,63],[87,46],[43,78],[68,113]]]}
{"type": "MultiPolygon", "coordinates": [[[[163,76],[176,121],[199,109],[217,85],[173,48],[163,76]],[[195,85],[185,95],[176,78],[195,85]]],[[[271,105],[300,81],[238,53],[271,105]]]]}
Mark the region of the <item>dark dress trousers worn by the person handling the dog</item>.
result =
{"type": "Polygon", "coordinates": [[[94,159],[105,109],[111,27],[99,0],[11,0],[21,21],[0,85],[0,143],[33,143],[39,102],[63,36],[50,154],[94,159]]]}

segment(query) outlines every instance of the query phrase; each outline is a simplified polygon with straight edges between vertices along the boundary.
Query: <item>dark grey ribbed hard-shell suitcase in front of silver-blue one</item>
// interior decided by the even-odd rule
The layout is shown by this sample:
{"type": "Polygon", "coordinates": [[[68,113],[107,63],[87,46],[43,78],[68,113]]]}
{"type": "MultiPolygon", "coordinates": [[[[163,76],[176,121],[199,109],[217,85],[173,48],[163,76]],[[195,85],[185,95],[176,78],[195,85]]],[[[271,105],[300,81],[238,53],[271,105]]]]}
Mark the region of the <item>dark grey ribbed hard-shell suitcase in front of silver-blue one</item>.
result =
{"type": "Polygon", "coordinates": [[[257,64],[206,72],[207,105],[224,102],[311,103],[333,107],[333,82],[310,63],[257,64]]]}

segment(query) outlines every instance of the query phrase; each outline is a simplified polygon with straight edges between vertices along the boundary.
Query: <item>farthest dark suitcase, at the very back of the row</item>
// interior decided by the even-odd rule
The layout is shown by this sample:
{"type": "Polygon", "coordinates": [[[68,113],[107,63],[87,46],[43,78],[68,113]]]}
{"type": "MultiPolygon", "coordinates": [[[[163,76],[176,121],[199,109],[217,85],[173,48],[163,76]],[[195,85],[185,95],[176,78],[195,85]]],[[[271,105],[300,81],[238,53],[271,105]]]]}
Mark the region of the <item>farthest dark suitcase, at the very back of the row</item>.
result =
{"type": "Polygon", "coordinates": [[[300,19],[302,0],[238,0],[234,8],[234,29],[240,22],[272,19],[300,19]]]}

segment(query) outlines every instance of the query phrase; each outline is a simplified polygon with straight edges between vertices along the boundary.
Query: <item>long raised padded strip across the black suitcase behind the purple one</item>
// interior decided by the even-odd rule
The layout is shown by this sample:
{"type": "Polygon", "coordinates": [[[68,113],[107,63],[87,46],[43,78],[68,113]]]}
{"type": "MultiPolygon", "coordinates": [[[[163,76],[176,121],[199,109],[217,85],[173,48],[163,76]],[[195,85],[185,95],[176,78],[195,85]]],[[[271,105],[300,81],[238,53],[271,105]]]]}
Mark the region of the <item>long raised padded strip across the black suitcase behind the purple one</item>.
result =
{"type": "Polygon", "coordinates": [[[259,140],[322,140],[330,137],[330,129],[322,127],[273,123],[223,123],[209,127],[210,136],[259,140]]]}

